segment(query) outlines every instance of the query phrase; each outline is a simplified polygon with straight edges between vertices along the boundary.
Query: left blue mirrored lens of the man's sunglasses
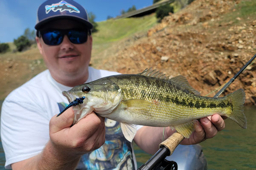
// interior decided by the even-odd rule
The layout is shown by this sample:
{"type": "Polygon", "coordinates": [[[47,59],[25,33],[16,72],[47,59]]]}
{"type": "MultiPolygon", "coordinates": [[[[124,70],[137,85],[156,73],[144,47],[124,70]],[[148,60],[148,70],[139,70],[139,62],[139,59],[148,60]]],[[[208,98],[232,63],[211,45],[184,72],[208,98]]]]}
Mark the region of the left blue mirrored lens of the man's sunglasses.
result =
{"type": "Polygon", "coordinates": [[[42,34],[44,43],[47,45],[59,45],[63,41],[64,35],[60,31],[46,31],[42,34]]]}

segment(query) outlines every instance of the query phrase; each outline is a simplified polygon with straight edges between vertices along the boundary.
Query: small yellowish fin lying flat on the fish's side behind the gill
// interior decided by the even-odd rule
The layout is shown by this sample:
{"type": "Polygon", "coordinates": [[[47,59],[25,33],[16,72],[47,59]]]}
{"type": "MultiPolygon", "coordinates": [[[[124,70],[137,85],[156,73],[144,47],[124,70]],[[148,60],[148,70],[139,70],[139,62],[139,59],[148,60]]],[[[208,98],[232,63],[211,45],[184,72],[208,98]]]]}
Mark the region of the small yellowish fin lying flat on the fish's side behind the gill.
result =
{"type": "Polygon", "coordinates": [[[122,103],[125,105],[126,108],[129,109],[143,109],[152,105],[151,102],[143,99],[128,99],[122,101],[122,103]]]}

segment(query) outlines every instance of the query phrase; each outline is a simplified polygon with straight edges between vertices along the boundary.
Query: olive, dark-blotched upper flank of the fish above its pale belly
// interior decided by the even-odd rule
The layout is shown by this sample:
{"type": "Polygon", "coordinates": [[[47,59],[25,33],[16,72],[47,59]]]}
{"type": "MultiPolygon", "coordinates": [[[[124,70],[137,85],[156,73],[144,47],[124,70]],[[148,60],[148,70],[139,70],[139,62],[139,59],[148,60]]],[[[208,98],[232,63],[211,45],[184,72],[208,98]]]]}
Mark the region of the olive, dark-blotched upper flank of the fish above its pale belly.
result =
{"type": "MultiPolygon", "coordinates": [[[[145,100],[157,99],[163,102],[172,102],[176,105],[189,108],[228,108],[233,110],[231,101],[209,101],[204,98],[191,96],[189,92],[168,80],[159,80],[152,77],[135,76],[118,80],[118,85],[127,99],[140,98],[145,100]],[[187,96],[190,95],[190,96],[187,96]]],[[[216,99],[217,100],[217,99],[216,99]]]]}

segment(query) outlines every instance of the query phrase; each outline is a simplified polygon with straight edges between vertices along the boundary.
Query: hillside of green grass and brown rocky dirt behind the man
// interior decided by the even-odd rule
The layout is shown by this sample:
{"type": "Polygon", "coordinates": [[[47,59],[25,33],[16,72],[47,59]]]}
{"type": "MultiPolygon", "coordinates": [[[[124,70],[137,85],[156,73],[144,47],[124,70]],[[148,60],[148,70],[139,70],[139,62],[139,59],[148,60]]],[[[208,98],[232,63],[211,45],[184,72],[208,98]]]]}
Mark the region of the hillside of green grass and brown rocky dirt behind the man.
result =
{"type": "MultiPolygon", "coordinates": [[[[150,67],[171,77],[181,74],[206,95],[253,57],[255,7],[254,0],[195,0],[159,24],[154,15],[101,22],[99,27],[105,29],[93,34],[91,65],[126,74],[150,67]]],[[[45,69],[35,46],[22,53],[0,54],[0,58],[0,99],[45,69]]],[[[244,88],[246,104],[256,105],[255,80],[253,64],[225,95],[244,88]]]]}

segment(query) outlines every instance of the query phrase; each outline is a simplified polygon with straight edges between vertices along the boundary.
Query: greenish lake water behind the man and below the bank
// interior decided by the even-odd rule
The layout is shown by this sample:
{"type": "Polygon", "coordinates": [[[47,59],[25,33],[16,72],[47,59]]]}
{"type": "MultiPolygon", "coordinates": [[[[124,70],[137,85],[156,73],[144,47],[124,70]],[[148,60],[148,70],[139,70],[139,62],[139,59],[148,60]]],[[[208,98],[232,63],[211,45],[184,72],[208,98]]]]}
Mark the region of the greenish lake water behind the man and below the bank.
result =
{"type": "MultiPolygon", "coordinates": [[[[2,102],[0,101],[0,106],[2,102]]],[[[226,119],[226,128],[213,139],[202,142],[209,170],[255,170],[256,169],[256,107],[245,107],[247,129],[226,119]]],[[[134,145],[138,167],[151,156],[134,145]]],[[[5,157],[0,142],[0,170],[4,168],[5,157]]]]}

